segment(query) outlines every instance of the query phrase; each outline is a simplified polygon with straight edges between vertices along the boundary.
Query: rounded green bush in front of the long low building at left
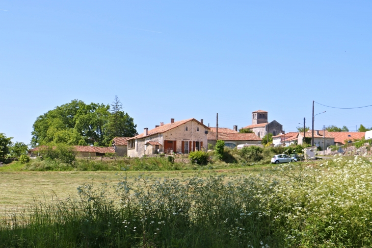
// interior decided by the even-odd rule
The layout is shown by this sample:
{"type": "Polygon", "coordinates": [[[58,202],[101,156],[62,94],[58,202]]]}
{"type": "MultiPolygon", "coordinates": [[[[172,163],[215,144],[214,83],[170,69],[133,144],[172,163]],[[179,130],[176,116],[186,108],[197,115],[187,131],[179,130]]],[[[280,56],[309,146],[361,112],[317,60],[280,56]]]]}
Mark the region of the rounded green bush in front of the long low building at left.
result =
{"type": "Polygon", "coordinates": [[[75,161],[76,151],[73,146],[57,143],[43,146],[39,154],[45,160],[58,160],[65,164],[72,164],[75,161]]]}

